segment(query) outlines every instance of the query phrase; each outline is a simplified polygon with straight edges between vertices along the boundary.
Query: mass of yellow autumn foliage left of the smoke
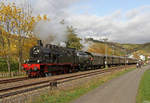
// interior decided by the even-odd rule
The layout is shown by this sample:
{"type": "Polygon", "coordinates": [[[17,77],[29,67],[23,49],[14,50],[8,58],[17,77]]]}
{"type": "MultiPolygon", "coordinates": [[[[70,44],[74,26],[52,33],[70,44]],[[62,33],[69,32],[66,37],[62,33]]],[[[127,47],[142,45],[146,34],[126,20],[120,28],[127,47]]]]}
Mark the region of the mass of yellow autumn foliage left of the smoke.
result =
{"type": "Polygon", "coordinates": [[[28,58],[29,49],[37,40],[32,36],[32,31],[35,23],[40,20],[48,20],[47,15],[43,18],[40,15],[34,17],[24,13],[15,3],[0,2],[0,56],[9,55],[18,59],[21,51],[23,58],[28,58]]]}

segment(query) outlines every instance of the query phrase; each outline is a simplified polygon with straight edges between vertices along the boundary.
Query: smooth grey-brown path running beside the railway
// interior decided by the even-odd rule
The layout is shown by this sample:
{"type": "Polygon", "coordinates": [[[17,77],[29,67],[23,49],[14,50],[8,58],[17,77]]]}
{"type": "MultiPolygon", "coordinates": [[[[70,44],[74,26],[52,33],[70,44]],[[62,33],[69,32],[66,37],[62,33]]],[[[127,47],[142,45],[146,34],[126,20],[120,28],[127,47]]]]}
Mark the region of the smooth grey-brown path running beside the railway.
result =
{"type": "Polygon", "coordinates": [[[147,69],[150,69],[150,66],[113,79],[72,103],[136,103],[139,82],[147,69]]]}

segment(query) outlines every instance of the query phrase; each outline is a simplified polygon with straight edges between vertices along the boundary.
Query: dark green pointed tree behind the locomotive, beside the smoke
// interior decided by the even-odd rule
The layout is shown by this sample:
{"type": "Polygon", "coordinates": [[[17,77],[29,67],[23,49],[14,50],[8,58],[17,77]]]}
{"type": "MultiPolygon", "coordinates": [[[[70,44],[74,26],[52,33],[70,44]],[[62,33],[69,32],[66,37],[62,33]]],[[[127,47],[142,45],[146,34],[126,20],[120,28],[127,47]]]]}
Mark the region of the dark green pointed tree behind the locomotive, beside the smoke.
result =
{"type": "Polygon", "coordinates": [[[75,30],[72,26],[67,27],[67,33],[68,41],[66,42],[66,46],[68,48],[76,48],[77,50],[80,50],[83,47],[80,43],[81,38],[77,37],[77,34],[75,33],[75,30]]]}

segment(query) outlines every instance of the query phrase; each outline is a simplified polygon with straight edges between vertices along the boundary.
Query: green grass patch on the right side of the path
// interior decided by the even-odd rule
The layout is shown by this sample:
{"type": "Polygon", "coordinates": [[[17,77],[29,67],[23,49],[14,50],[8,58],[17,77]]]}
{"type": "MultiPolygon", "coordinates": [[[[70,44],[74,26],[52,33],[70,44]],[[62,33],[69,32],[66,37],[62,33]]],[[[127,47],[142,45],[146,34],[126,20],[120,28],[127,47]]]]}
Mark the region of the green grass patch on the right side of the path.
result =
{"type": "Polygon", "coordinates": [[[136,103],[150,103],[150,70],[145,71],[142,76],[136,103]]]}

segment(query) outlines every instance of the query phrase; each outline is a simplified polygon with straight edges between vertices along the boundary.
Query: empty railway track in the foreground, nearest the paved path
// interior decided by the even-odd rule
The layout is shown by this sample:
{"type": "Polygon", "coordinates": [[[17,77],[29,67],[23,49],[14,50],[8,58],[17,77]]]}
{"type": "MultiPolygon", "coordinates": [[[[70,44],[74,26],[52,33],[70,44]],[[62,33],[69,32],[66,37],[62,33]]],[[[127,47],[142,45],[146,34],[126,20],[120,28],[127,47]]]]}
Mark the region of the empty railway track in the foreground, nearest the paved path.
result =
{"type": "Polygon", "coordinates": [[[124,67],[119,67],[119,68],[117,67],[117,68],[113,68],[113,69],[95,70],[92,72],[73,74],[71,76],[58,77],[58,78],[45,80],[45,81],[41,81],[41,82],[35,82],[35,83],[0,89],[0,99],[9,97],[9,96],[14,96],[14,95],[21,94],[21,93],[30,92],[30,91],[45,88],[45,87],[53,87],[53,86],[57,87],[61,83],[77,80],[80,78],[95,76],[95,75],[99,75],[102,73],[111,72],[114,70],[120,70],[123,68],[124,67]]]}

